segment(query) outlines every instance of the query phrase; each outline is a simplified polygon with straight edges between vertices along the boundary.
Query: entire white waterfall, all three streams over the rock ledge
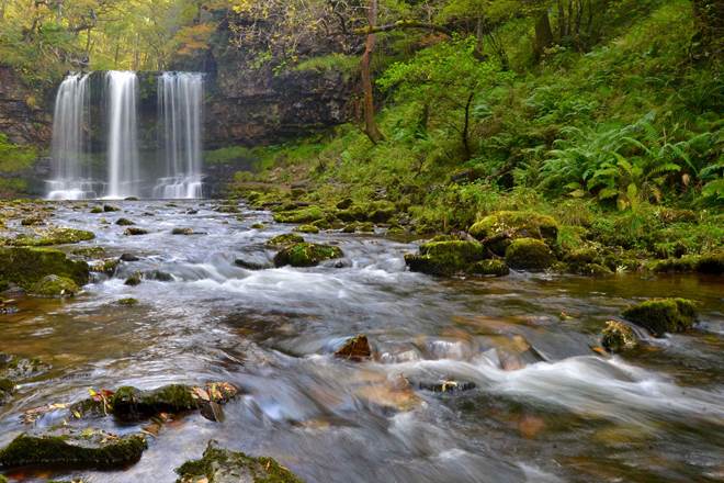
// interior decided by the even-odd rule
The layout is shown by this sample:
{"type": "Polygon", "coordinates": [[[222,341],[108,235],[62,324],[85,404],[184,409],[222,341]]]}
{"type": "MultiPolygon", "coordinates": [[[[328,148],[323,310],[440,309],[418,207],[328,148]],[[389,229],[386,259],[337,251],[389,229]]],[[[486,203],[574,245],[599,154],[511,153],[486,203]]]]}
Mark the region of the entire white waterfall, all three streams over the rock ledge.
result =
{"type": "Polygon", "coordinates": [[[55,102],[47,198],[202,198],[203,96],[199,72],[70,74],[55,102]]]}

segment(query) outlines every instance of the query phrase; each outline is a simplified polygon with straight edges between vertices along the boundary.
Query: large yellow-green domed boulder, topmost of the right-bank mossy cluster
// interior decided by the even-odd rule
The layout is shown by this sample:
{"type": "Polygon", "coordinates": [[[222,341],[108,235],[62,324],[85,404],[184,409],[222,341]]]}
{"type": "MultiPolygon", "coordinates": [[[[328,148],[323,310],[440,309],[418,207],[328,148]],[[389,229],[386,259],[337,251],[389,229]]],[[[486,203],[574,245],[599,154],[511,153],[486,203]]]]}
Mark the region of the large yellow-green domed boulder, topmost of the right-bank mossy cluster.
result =
{"type": "Polygon", "coordinates": [[[475,223],[468,233],[479,240],[491,243],[494,251],[502,255],[507,243],[500,244],[498,240],[535,238],[548,245],[555,244],[558,224],[551,216],[534,212],[501,211],[475,223]]]}

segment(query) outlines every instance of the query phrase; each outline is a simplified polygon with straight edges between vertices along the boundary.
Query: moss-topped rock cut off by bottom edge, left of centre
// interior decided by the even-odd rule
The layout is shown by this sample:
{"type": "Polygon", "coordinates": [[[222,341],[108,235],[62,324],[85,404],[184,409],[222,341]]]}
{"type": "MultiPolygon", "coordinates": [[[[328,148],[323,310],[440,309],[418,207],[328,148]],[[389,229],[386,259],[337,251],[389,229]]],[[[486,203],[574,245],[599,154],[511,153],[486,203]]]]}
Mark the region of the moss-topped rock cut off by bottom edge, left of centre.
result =
{"type": "Polygon", "coordinates": [[[302,483],[272,458],[253,458],[212,443],[201,460],[188,461],[176,472],[177,483],[302,483]]]}

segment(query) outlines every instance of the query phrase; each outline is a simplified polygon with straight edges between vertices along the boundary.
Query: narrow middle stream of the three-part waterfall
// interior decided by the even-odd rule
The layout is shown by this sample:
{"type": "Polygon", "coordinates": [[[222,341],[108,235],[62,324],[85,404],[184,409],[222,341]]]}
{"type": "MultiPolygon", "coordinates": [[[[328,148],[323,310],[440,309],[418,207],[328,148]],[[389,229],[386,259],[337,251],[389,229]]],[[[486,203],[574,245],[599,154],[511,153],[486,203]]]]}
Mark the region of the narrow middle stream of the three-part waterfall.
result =
{"type": "Polygon", "coordinates": [[[109,116],[106,198],[138,196],[138,77],[136,72],[111,70],[105,79],[109,116]]]}

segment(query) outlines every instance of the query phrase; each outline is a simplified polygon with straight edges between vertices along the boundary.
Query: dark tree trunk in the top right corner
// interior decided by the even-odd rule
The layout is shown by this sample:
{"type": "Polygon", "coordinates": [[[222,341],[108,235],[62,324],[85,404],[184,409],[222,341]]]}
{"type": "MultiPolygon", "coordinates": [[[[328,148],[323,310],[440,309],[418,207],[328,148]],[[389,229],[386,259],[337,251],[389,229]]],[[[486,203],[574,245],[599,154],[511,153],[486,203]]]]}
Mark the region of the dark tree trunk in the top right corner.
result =
{"type": "Polygon", "coordinates": [[[693,0],[697,34],[692,54],[697,59],[721,59],[724,48],[724,3],[721,0],[693,0]]]}

